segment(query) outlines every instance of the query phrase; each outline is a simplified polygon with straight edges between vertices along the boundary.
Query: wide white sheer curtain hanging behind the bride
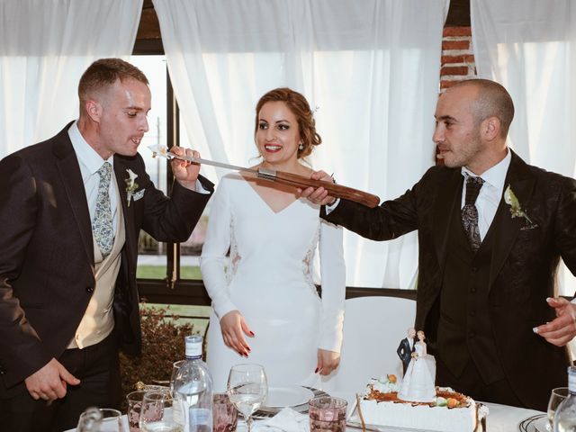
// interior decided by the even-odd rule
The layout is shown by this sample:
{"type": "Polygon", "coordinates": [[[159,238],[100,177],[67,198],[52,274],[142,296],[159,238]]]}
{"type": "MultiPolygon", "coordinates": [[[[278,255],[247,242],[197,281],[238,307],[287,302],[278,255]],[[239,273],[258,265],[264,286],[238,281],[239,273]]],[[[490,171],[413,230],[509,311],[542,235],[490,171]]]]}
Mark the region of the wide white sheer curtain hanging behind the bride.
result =
{"type": "MultiPolygon", "coordinates": [[[[434,163],[448,0],[153,3],[189,145],[203,157],[255,165],[257,100],[289,86],[318,107],[323,143],[310,162],[338,183],[389,199],[434,163]]],[[[414,284],[416,233],[373,242],[346,232],[345,253],[348,285],[414,284]]]]}

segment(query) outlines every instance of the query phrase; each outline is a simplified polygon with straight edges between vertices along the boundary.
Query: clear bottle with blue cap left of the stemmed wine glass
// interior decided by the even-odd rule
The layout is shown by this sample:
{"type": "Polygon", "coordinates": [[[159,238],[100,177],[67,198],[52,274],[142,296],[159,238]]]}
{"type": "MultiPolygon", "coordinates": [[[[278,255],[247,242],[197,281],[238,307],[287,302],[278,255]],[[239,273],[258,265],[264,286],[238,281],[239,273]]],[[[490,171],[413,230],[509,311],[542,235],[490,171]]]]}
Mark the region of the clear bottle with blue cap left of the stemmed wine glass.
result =
{"type": "Polygon", "coordinates": [[[184,412],[184,430],[211,432],[212,379],[202,361],[202,336],[184,338],[186,361],[174,380],[175,397],[184,412]]]}

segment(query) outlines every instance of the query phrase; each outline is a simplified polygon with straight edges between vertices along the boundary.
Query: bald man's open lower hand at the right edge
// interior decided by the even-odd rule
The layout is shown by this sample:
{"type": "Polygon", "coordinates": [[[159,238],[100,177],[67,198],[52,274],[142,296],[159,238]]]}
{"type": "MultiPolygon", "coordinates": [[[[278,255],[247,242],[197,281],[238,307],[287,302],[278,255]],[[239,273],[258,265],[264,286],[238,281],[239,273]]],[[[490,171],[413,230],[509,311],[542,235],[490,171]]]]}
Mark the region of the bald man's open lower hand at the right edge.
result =
{"type": "Polygon", "coordinates": [[[533,330],[557,347],[563,347],[576,336],[576,304],[563,297],[546,299],[548,305],[556,311],[556,319],[533,330]]]}

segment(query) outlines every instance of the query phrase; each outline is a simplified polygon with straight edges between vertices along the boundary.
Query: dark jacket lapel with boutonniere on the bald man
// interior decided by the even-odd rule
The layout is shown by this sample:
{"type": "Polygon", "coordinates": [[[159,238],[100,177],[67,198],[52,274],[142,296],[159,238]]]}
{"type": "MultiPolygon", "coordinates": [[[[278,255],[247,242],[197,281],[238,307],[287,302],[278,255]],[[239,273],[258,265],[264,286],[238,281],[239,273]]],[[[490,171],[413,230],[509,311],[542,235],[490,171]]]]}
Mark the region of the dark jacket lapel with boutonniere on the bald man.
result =
{"type": "MultiPolygon", "coordinates": [[[[517,196],[521,207],[526,208],[528,202],[530,202],[534,183],[535,179],[529,175],[526,163],[516,153],[512,152],[512,160],[510,161],[506,182],[504,183],[504,191],[502,192],[504,193],[506,188],[510,186],[510,189],[517,196]]],[[[504,262],[508,259],[520,229],[524,226],[526,226],[526,220],[521,217],[512,218],[509,204],[504,202],[503,198],[500,198],[500,204],[491,226],[491,229],[494,229],[495,238],[497,238],[497,246],[492,248],[489,290],[496,276],[500,273],[504,262]]]]}

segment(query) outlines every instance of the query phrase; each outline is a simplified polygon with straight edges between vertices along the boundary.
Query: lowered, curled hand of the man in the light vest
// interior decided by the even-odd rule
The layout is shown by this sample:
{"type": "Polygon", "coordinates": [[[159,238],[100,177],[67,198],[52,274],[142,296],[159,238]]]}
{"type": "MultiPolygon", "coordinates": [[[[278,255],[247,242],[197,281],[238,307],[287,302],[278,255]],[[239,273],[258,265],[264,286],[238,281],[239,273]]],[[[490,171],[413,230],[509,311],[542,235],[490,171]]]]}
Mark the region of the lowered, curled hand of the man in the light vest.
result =
{"type": "Polygon", "coordinates": [[[58,360],[52,358],[47,365],[26,378],[24,383],[35,401],[55,401],[66,396],[67,384],[78,385],[80,380],[70,374],[58,360]]]}

